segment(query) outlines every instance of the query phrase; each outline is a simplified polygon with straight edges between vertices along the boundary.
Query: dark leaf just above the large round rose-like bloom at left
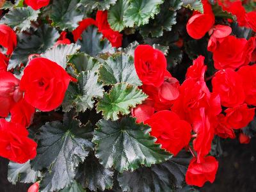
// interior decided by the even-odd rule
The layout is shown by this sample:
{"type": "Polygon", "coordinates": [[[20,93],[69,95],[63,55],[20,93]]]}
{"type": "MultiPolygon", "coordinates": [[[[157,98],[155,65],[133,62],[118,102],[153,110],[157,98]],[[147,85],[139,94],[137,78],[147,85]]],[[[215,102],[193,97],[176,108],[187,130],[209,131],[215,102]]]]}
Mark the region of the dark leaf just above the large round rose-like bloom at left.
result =
{"type": "Polygon", "coordinates": [[[21,63],[26,65],[30,54],[41,54],[52,47],[60,34],[54,28],[44,24],[31,36],[19,36],[16,49],[10,58],[8,70],[18,67],[21,63]]]}

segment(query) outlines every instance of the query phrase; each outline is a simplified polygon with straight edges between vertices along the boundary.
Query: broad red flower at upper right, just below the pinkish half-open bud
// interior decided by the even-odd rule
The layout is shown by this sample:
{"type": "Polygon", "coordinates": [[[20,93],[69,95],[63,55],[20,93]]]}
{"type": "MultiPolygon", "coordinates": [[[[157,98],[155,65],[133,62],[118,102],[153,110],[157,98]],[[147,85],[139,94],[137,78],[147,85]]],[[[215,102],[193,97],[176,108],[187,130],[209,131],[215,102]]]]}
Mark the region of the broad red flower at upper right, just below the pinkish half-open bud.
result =
{"type": "Polygon", "coordinates": [[[246,56],[243,54],[246,42],[245,38],[236,38],[232,35],[223,38],[213,52],[214,67],[236,69],[242,65],[248,65],[246,56]]]}

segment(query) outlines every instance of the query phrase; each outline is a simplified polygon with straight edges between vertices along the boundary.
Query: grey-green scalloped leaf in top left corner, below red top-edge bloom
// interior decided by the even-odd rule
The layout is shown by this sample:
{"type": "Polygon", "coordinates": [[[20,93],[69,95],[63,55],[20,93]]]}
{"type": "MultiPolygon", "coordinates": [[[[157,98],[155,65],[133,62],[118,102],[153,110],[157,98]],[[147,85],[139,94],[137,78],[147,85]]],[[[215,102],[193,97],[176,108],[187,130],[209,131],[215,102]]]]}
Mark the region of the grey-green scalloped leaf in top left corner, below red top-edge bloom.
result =
{"type": "Polygon", "coordinates": [[[32,8],[22,7],[15,8],[6,13],[1,19],[1,24],[6,24],[13,28],[13,30],[19,29],[20,31],[25,31],[31,26],[31,21],[37,19],[40,10],[33,10],[32,8]]]}

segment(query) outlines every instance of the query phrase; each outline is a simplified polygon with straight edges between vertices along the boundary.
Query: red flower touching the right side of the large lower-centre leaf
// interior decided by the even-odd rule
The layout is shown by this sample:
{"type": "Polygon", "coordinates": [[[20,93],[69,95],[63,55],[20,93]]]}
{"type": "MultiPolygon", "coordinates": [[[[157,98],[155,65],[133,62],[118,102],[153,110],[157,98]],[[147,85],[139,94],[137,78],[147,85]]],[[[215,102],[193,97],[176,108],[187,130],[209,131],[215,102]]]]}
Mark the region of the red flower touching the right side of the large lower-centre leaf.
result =
{"type": "Polygon", "coordinates": [[[188,145],[191,138],[191,125],[180,120],[172,111],[159,111],[152,115],[145,124],[150,125],[151,135],[157,138],[162,148],[176,156],[179,151],[188,145]]]}

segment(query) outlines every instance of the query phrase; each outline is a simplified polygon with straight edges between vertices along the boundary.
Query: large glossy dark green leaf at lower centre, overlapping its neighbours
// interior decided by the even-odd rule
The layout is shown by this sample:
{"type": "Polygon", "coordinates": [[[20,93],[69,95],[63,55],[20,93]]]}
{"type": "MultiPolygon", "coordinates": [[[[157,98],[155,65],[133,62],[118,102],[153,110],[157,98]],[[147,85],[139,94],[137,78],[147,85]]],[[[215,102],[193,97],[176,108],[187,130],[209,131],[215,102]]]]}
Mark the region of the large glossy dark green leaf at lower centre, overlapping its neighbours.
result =
{"type": "Polygon", "coordinates": [[[136,170],[140,164],[151,166],[170,159],[171,154],[156,144],[148,125],[136,124],[136,118],[124,117],[115,122],[100,120],[96,125],[93,143],[95,156],[105,168],[114,166],[118,172],[136,170]]]}

